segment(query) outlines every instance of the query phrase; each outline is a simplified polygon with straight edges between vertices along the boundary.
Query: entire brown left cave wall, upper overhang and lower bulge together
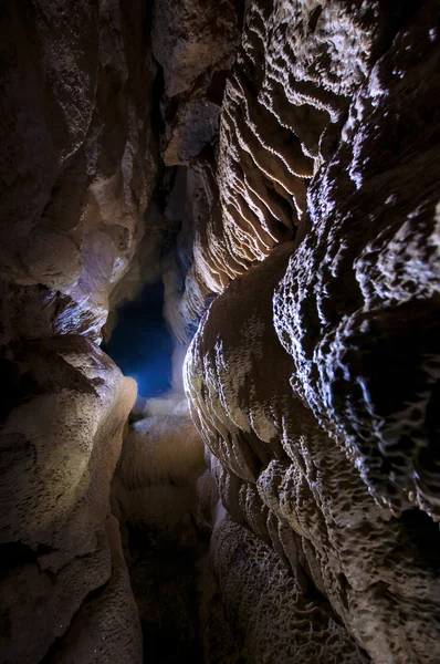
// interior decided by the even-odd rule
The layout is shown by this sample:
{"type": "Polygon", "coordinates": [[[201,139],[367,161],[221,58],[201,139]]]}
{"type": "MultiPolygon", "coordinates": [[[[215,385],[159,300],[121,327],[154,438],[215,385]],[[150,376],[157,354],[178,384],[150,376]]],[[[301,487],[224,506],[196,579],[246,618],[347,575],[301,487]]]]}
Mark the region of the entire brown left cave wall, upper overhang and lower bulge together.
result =
{"type": "Polygon", "coordinates": [[[0,661],[142,661],[109,489],[134,381],[93,341],[155,186],[142,1],[0,10],[0,661]]]}

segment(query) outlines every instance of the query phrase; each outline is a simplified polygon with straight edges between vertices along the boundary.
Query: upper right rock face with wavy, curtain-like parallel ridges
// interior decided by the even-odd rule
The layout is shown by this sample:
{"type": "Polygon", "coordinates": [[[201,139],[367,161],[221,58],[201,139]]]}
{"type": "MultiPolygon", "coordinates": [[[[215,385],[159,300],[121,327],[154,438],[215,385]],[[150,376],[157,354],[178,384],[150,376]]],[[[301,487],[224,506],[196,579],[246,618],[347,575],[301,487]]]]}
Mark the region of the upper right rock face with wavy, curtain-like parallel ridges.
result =
{"type": "Polygon", "coordinates": [[[197,230],[189,291],[196,282],[222,292],[295,236],[307,184],[337,147],[353,94],[410,9],[378,0],[247,4],[220,116],[220,203],[197,230]]]}

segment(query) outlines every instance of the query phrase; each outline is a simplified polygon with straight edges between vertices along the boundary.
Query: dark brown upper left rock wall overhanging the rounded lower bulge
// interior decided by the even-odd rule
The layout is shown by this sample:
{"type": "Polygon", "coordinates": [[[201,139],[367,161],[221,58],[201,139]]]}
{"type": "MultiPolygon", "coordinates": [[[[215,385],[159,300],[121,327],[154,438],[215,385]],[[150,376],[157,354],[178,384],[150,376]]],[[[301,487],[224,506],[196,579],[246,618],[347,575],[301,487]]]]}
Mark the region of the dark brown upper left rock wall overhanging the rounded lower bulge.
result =
{"type": "Polygon", "coordinates": [[[146,9],[41,0],[1,11],[3,343],[97,339],[155,180],[146,9]]]}

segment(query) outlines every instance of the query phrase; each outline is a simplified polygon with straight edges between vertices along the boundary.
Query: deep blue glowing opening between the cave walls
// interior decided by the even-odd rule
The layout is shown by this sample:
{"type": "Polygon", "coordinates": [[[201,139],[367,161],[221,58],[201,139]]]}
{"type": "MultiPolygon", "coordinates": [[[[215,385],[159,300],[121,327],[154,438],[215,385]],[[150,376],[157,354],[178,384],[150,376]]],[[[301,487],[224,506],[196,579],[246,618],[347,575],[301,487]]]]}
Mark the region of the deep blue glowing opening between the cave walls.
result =
{"type": "Polygon", "coordinates": [[[163,317],[164,283],[146,286],[140,295],[118,309],[118,324],[103,350],[126,376],[137,381],[138,394],[156,396],[171,387],[171,336],[163,317]]]}

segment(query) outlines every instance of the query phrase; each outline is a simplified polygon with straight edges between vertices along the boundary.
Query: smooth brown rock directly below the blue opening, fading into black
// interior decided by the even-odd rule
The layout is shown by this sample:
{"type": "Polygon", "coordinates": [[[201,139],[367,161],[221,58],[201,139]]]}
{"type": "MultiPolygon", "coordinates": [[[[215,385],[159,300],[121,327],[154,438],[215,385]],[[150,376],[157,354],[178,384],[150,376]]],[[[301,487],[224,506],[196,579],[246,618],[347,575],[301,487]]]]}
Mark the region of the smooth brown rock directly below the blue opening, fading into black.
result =
{"type": "Polygon", "coordinates": [[[177,398],[148,400],[160,413],[136,422],[124,443],[112,486],[144,636],[157,662],[198,664],[197,479],[203,445],[177,398]]]}

